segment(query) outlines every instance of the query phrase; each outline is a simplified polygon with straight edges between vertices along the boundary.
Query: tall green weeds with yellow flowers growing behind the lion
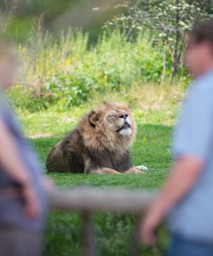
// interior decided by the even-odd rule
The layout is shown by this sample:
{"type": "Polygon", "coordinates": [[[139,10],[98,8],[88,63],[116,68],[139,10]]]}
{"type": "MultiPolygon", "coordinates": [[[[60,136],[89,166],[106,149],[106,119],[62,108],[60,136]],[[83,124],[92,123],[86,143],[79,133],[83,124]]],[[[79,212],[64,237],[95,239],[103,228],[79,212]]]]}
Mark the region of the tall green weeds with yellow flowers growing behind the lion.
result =
{"type": "Polygon", "coordinates": [[[135,84],[161,83],[162,48],[151,45],[147,34],[130,42],[114,30],[93,47],[87,48],[87,42],[87,34],[72,30],[54,41],[38,26],[17,48],[22,66],[10,92],[15,106],[31,112],[64,110],[91,100],[95,92],[126,93],[135,84]]]}

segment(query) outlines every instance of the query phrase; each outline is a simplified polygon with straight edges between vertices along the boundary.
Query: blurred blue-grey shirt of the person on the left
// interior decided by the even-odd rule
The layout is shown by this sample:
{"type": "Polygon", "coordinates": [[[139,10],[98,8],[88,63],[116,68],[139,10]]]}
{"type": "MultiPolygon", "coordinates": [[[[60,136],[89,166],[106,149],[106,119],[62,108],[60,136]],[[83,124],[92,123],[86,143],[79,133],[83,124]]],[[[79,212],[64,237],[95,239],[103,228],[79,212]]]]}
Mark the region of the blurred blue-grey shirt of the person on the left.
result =
{"type": "MultiPolygon", "coordinates": [[[[33,182],[38,201],[41,206],[41,216],[36,220],[29,220],[24,214],[24,201],[22,198],[7,198],[1,194],[1,189],[16,188],[17,184],[4,170],[0,163],[0,228],[4,226],[19,227],[38,233],[43,228],[43,221],[46,210],[46,195],[43,191],[41,165],[36,154],[31,149],[27,140],[22,136],[18,123],[12,110],[7,105],[5,98],[0,94],[0,119],[6,124],[17,149],[20,158],[25,164],[31,181],[33,182]]],[[[1,147],[1,145],[0,145],[1,147]]],[[[13,161],[13,159],[11,159],[13,161]]]]}

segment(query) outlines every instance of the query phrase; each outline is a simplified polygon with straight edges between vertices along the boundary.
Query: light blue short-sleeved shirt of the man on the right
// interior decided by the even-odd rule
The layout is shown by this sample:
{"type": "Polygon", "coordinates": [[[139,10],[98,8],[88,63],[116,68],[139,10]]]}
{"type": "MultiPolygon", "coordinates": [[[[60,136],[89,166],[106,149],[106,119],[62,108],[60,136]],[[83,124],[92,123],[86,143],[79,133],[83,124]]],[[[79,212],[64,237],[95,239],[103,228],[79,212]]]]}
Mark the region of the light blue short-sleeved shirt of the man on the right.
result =
{"type": "Polygon", "coordinates": [[[213,71],[191,86],[172,146],[175,159],[196,156],[205,167],[191,191],[172,209],[168,217],[170,231],[213,243],[213,71]]]}

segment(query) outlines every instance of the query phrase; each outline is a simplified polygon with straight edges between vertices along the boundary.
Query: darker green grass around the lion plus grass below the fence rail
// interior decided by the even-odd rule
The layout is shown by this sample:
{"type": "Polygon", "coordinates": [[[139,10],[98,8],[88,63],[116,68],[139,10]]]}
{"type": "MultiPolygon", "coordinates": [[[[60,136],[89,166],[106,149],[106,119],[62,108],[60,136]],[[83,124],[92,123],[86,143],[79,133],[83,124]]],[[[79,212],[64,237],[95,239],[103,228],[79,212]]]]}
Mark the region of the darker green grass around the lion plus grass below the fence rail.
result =
{"type": "MultiPolygon", "coordinates": [[[[66,131],[64,130],[64,133],[66,131]]],[[[158,189],[165,180],[170,166],[171,127],[153,124],[138,124],[138,135],[132,147],[134,165],[145,165],[149,171],[145,175],[73,175],[51,173],[49,176],[57,187],[73,188],[87,185],[93,187],[119,187],[123,189],[158,189]]],[[[45,162],[50,148],[61,136],[31,139],[36,151],[45,162]]],[[[128,255],[131,234],[138,217],[133,215],[95,215],[96,243],[101,255],[128,255]]],[[[45,236],[46,255],[81,255],[80,217],[73,213],[51,213],[47,221],[45,236]]],[[[164,232],[164,231],[163,231],[164,232]]],[[[142,248],[145,255],[161,255],[165,247],[164,234],[158,248],[142,248]]]]}

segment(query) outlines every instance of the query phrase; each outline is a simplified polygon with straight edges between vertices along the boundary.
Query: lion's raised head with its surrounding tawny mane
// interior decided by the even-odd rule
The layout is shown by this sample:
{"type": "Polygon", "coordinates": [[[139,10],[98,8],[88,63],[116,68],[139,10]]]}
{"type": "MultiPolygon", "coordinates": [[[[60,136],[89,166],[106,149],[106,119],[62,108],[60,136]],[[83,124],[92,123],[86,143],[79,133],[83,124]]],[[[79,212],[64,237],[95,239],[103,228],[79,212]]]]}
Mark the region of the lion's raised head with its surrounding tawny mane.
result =
{"type": "Polygon", "coordinates": [[[81,126],[86,144],[98,149],[127,149],[136,133],[131,109],[118,103],[104,102],[86,116],[81,126]]]}

